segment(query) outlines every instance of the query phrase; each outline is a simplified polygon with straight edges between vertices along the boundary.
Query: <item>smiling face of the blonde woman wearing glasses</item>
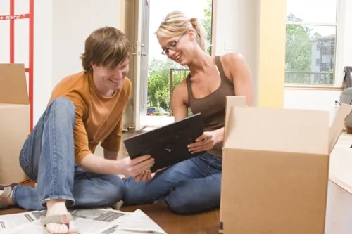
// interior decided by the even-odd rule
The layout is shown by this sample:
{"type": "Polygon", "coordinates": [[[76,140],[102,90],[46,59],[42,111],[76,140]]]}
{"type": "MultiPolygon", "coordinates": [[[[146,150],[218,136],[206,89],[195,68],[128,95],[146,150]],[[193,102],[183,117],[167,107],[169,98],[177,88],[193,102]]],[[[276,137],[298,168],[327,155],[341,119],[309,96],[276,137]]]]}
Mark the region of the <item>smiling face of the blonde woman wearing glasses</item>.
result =
{"type": "Polygon", "coordinates": [[[163,54],[180,65],[188,65],[194,57],[196,49],[193,30],[188,30],[178,37],[158,37],[163,54]]]}

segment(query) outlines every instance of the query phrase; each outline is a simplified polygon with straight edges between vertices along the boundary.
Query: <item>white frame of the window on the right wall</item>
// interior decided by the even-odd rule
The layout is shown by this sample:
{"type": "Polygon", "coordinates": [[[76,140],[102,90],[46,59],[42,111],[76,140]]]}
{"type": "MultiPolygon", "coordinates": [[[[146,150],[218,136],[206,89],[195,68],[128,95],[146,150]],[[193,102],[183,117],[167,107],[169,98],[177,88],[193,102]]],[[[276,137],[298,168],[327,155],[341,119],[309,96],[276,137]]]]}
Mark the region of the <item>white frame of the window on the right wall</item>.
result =
{"type": "MultiPolygon", "coordinates": [[[[309,1],[309,0],[308,0],[309,1]]],[[[340,45],[343,44],[344,39],[344,15],[345,15],[345,1],[346,0],[337,0],[336,7],[336,22],[328,23],[328,22],[291,22],[287,21],[285,18],[285,25],[303,25],[303,26],[333,26],[336,27],[336,43],[335,43],[335,58],[334,58],[334,84],[289,84],[284,83],[285,89],[342,89],[342,80],[343,80],[343,60],[344,53],[340,51],[340,45]]],[[[287,15],[287,14],[286,14],[287,15]]],[[[287,16],[286,16],[287,17],[287,16]]],[[[286,53],[286,49],[285,49],[286,53]]],[[[286,72],[286,71],[285,71],[286,72]]]]}

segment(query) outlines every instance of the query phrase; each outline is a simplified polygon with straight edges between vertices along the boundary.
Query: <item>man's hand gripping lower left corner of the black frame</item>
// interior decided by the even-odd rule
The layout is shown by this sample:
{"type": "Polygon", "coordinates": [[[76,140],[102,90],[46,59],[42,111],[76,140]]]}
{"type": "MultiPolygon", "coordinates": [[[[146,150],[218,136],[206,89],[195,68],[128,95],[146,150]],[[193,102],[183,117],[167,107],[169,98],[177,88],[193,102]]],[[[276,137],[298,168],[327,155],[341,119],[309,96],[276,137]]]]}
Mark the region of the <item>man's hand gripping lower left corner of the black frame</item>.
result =
{"type": "MultiPolygon", "coordinates": [[[[154,159],[151,155],[143,155],[133,160],[131,160],[130,157],[125,157],[118,161],[118,174],[122,174],[126,176],[126,178],[131,176],[137,178],[137,176],[141,176],[141,174],[144,176],[145,171],[153,167],[153,164],[154,159]]],[[[141,178],[144,178],[143,176],[141,178]]],[[[146,173],[146,177],[149,178],[148,173],[146,173]]]]}

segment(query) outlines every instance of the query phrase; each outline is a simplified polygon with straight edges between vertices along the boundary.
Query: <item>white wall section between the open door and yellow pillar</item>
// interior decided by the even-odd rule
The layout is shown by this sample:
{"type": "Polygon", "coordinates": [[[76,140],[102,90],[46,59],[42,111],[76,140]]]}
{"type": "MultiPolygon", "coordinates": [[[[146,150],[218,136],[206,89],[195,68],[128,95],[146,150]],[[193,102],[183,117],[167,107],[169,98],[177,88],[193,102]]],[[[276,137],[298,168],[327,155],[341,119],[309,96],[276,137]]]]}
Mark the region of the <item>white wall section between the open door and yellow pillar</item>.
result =
{"type": "MultiPolygon", "coordinates": [[[[258,93],[260,0],[218,0],[215,53],[241,53],[253,75],[258,93]],[[225,46],[232,49],[225,49],[225,46]]],[[[255,104],[257,96],[254,96],[255,104]]]]}

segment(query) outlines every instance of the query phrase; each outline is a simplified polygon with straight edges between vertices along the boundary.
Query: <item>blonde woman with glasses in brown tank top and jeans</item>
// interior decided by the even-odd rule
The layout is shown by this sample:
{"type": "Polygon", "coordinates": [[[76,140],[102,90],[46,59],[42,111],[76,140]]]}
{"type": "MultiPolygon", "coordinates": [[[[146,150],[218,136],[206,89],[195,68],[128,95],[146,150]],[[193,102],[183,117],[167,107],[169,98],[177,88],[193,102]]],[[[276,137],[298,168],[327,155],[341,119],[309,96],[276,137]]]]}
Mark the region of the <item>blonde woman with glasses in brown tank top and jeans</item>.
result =
{"type": "Polygon", "coordinates": [[[203,155],[156,173],[151,181],[125,180],[125,204],[146,204],[165,199],[172,211],[194,214],[220,206],[222,136],[226,96],[246,96],[253,104],[251,72],[237,53],[208,56],[199,20],[180,11],[169,13],[156,32],[163,54],[190,73],[177,85],[172,98],[175,121],[187,117],[187,108],[201,112],[205,132],[189,145],[203,155]]]}

